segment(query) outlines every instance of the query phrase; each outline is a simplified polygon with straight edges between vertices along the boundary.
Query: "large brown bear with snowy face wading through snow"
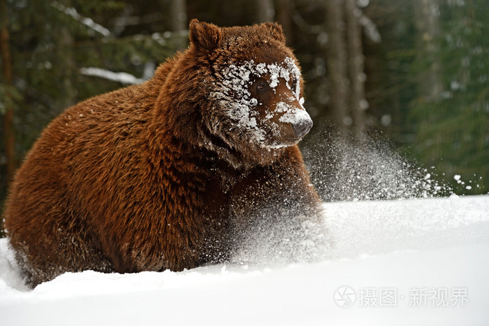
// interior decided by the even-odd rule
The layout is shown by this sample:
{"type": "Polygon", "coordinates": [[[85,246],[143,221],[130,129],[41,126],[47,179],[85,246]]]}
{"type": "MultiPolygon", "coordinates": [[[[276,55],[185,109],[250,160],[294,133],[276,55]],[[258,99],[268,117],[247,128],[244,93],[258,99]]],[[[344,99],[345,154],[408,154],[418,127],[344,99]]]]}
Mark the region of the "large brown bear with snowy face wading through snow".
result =
{"type": "Polygon", "coordinates": [[[189,38],[142,85],[66,109],[27,154],[5,226],[29,285],[220,262],[258,220],[314,218],[297,146],[312,120],[282,28],[192,20],[189,38]]]}

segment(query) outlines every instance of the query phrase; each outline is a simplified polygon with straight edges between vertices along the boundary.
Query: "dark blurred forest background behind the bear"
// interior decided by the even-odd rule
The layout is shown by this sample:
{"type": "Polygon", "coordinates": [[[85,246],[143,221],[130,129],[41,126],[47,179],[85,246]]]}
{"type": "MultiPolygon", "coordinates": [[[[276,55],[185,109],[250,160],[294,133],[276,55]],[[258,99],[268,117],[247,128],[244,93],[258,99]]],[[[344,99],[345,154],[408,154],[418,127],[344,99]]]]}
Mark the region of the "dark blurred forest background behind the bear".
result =
{"type": "Polygon", "coordinates": [[[192,18],[282,24],[315,125],[308,164],[329,160],[318,144],[370,135],[456,194],[489,191],[486,0],[0,0],[0,14],[0,207],[52,118],[150,78],[192,18]]]}

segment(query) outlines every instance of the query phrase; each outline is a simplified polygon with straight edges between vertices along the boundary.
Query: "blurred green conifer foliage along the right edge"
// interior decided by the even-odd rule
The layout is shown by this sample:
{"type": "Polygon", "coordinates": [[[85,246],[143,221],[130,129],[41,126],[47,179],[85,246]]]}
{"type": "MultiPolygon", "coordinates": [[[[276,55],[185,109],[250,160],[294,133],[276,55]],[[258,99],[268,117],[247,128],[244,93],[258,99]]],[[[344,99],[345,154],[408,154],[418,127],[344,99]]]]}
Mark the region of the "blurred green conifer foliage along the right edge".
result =
{"type": "Polygon", "coordinates": [[[483,0],[453,0],[439,8],[441,27],[433,40],[437,49],[418,69],[437,64],[442,89],[430,98],[420,94],[410,112],[417,125],[414,154],[428,166],[436,166],[457,192],[465,194],[489,190],[486,6],[483,0]]]}

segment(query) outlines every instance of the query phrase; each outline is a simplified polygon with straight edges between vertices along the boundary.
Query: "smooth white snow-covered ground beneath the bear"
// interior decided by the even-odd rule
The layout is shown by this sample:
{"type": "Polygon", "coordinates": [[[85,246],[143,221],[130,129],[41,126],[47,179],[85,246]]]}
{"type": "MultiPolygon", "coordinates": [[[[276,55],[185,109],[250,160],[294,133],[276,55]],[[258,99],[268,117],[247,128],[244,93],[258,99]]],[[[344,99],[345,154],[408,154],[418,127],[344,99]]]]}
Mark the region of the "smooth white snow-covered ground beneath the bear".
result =
{"type": "Polygon", "coordinates": [[[1,325],[489,325],[489,196],[324,209],[321,262],[85,271],[34,290],[1,239],[1,325]]]}

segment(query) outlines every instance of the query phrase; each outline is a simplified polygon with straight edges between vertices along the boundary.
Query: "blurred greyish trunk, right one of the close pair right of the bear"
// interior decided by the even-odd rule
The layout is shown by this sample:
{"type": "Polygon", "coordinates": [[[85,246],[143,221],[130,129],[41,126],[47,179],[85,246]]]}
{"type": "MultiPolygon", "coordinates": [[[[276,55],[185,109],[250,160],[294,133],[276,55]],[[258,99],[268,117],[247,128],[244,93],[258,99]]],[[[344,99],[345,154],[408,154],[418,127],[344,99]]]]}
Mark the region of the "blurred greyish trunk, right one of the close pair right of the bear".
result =
{"type": "Polygon", "coordinates": [[[348,43],[348,70],[350,78],[350,113],[353,118],[353,136],[357,140],[363,138],[365,132],[365,71],[362,47],[362,30],[358,23],[360,9],[355,0],[346,0],[346,31],[348,43]]]}

